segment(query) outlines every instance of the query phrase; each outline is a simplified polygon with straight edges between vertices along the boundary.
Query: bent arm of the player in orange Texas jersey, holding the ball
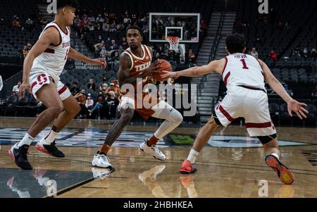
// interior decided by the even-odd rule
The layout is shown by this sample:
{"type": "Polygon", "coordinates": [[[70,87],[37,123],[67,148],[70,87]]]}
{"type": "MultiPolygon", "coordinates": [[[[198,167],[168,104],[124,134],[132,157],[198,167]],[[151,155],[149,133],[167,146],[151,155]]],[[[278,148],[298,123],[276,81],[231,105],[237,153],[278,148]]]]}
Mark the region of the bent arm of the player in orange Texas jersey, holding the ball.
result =
{"type": "Polygon", "coordinates": [[[140,73],[139,75],[130,76],[130,68],[132,66],[131,58],[127,54],[122,54],[120,56],[120,67],[118,71],[118,81],[120,87],[122,87],[125,84],[136,85],[138,78],[143,79],[143,77],[146,77],[147,75],[156,73],[157,70],[160,68],[160,64],[161,63],[159,62],[152,63],[147,70],[140,73]]]}

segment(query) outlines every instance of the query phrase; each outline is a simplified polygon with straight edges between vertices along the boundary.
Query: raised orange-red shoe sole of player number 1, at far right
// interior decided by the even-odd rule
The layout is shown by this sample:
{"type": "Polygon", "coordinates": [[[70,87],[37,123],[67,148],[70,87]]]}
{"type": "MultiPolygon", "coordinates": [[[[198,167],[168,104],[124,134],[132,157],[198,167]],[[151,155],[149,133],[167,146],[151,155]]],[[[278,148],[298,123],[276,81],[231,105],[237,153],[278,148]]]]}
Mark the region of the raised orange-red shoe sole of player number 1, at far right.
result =
{"type": "Polygon", "coordinates": [[[291,185],[294,182],[294,174],[292,173],[292,170],[282,164],[275,156],[266,156],[266,164],[273,168],[275,173],[278,174],[280,181],[282,181],[285,185],[291,185]]]}

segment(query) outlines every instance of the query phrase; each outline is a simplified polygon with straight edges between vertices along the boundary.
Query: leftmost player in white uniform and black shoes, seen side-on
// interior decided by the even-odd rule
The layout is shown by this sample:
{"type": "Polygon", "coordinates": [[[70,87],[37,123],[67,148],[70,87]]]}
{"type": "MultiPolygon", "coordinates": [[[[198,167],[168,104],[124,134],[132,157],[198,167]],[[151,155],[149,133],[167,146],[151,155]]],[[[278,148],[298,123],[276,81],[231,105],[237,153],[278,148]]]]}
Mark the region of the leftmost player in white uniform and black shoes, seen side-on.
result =
{"type": "Polygon", "coordinates": [[[87,58],[70,47],[70,26],[73,25],[76,8],[76,0],[57,1],[54,22],[46,25],[24,61],[23,84],[20,86],[19,98],[25,97],[27,89],[47,108],[38,116],[25,137],[9,150],[13,161],[24,170],[32,169],[27,161],[30,144],[39,132],[55,119],[49,134],[43,137],[35,148],[57,158],[64,157],[56,148],[56,136],[80,111],[79,104],[59,78],[67,58],[106,68],[106,61],[87,58]]]}

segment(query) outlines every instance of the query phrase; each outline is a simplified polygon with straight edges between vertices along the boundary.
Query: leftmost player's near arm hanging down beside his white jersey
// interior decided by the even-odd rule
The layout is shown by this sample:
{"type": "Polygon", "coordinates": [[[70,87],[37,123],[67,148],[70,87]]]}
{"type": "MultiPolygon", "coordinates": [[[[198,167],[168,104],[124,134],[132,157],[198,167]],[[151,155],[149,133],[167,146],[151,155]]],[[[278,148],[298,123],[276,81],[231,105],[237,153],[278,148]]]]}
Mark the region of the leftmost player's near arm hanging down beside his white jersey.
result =
{"type": "Polygon", "coordinates": [[[61,43],[61,37],[58,30],[54,27],[49,27],[45,30],[36,44],[32,47],[30,52],[25,57],[23,63],[23,83],[19,89],[19,98],[22,99],[25,96],[25,89],[29,93],[32,93],[29,82],[30,71],[35,58],[42,54],[51,44],[58,45],[61,43]]]}

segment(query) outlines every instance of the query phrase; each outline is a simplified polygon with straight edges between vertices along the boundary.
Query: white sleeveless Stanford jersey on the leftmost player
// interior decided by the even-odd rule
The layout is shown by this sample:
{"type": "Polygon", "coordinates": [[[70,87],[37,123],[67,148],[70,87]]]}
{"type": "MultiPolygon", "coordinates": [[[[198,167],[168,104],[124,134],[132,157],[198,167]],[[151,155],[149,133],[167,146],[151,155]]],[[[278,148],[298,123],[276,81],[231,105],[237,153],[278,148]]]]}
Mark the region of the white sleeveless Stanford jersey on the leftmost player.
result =
{"type": "Polygon", "coordinates": [[[57,23],[49,23],[39,37],[42,37],[45,30],[55,27],[61,37],[61,43],[57,46],[51,45],[40,56],[35,58],[30,75],[37,73],[48,73],[54,80],[58,81],[63,72],[70,50],[70,28],[66,27],[64,32],[57,23]]]}

